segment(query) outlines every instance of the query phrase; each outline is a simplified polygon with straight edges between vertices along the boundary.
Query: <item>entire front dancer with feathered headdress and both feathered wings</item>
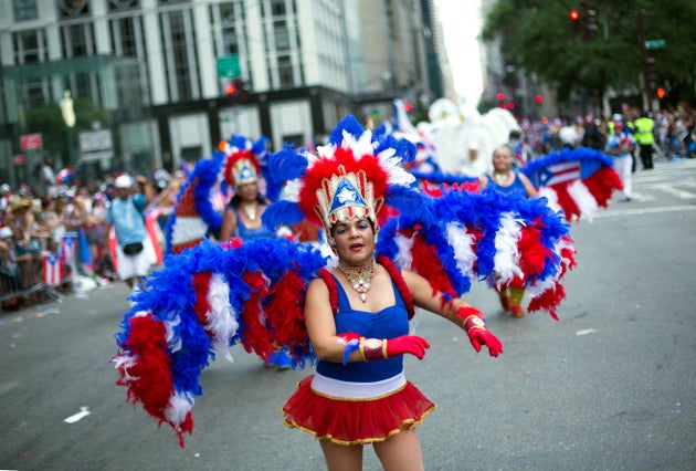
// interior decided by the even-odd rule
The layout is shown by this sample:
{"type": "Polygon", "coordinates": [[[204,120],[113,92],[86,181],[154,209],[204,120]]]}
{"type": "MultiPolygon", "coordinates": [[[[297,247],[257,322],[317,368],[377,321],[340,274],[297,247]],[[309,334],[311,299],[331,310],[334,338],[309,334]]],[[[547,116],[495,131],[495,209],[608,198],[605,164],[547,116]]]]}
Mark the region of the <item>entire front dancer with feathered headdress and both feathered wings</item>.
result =
{"type": "Polygon", "coordinates": [[[263,223],[309,220],[330,237],[337,262],[283,237],[203,240],[167,258],[116,335],[112,362],[127,400],[170,425],[183,447],[215,349],[231,358],[229,347],[240,344],[265,360],[280,345],[293,367],[319,362],[283,410],[286,425],[320,439],[329,468],[360,468],[363,444],[375,443],[384,468],[422,469],[413,427],[434,406],[403,376],[402,355],[428,348],[409,335],[413,306],[449,318],[476,350],[486,345],[496,356],[503,349],[483,315],[458,296],[471,280],[524,273],[529,311],[558,320],[574,249],[541,199],[426,196],[402,167],[414,154],[411,143],[375,138],[349,116],[318,157],[292,147],[271,156],[267,179],[287,184],[263,223]]]}

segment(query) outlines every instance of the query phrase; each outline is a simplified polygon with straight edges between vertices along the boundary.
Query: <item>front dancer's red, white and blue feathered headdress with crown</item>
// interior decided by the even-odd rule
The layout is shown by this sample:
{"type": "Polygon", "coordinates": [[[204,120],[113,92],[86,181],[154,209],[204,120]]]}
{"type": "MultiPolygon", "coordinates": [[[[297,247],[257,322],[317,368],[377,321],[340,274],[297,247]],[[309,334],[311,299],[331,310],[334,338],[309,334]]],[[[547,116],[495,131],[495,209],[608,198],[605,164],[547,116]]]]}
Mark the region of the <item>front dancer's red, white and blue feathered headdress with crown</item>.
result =
{"type": "Polygon", "coordinates": [[[401,167],[413,159],[415,147],[393,136],[373,140],[351,115],[338,123],[317,154],[286,147],[271,156],[270,174],[288,184],[281,201],[264,211],[266,226],[307,219],[329,233],[336,222],[365,217],[379,227],[403,209],[404,195],[420,198],[412,186],[415,179],[401,167]]]}

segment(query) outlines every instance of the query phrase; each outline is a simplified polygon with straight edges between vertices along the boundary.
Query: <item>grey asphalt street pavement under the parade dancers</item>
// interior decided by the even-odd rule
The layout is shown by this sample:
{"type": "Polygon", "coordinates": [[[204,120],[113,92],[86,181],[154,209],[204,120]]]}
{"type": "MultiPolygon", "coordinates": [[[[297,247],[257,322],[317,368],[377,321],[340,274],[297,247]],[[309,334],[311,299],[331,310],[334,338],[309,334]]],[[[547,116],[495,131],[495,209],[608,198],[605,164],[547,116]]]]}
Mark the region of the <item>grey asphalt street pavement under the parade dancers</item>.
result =
{"type": "MultiPolygon", "coordinates": [[[[695,233],[696,160],[657,161],[634,174],[633,201],[572,226],[578,266],[559,322],[512,318],[475,285],[464,297],[505,348],[492,358],[419,313],[413,331],[432,347],[405,367],[437,405],[418,429],[425,469],[695,469],[695,233]]],[[[234,363],[219,355],[184,449],[127,404],[108,363],[126,294],[114,283],[0,312],[1,469],[325,469],[316,440],[278,414],[310,369],[267,370],[239,346],[234,363]]],[[[381,469],[370,448],[365,462],[381,469]]]]}

